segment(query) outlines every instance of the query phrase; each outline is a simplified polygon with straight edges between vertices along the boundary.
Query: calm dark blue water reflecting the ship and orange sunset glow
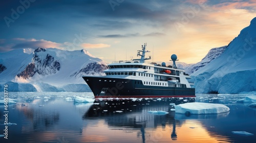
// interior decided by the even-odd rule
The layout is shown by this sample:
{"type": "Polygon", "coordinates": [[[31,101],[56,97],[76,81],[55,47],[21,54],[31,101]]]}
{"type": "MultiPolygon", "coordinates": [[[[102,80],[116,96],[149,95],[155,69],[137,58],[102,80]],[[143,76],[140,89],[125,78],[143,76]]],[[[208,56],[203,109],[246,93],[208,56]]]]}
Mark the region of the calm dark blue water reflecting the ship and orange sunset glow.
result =
{"type": "MultiPolygon", "coordinates": [[[[0,92],[4,95],[3,92],[0,92]]],[[[9,92],[8,139],[0,142],[255,142],[256,108],[236,103],[246,94],[197,94],[197,98],[108,100],[95,103],[66,101],[67,97],[92,98],[90,92],[9,92]],[[220,103],[229,113],[175,114],[170,103],[220,103]],[[147,111],[162,110],[165,115],[147,111]],[[253,136],[232,134],[246,131],[253,136]]],[[[1,96],[3,98],[3,96],[1,96]]],[[[0,124],[4,105],[0,105],[0,124]]],[[[4,126],[0,125],[0,134],[4,126]]]]}

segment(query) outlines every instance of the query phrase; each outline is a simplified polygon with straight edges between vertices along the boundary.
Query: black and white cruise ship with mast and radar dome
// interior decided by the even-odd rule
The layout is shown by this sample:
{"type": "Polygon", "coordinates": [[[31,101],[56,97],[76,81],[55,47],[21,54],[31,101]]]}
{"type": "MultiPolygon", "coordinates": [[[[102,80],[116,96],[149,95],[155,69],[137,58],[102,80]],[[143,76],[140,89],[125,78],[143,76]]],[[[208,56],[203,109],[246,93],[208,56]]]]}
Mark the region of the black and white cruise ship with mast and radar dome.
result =
{"type": "Polygon", "coordinates": [[[176,66],[177,56],[173,54],[173,65],[145,62],[146,43],[138,50],[140,59],[114,61],[105,76],[83,76],[95,98],[162,98],[195,97],[193,82],[185,70],[176,66]]]}

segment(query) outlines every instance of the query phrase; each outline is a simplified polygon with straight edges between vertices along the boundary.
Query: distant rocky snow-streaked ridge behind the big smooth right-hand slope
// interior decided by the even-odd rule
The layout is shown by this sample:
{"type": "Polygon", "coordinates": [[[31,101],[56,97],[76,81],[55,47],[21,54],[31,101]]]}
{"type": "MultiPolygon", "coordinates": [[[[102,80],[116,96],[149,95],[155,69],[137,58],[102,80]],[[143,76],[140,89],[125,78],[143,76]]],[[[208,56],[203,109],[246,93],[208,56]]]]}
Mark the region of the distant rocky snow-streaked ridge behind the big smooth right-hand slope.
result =
{"type": "Polygon", "coordinates": [[[183,68],[185,69],[187,74],[193,74],[195,73],[195,71],[197,71],[198,69],[204,67],[206,64],[208,64],[211,60],[216,59],[217,57],[219,57],[224,50],[226,49],[226,45],[222,46],[222,47],[215,47],[212,48],[208,54],[198,63],[196,64],[190,64],[190,65],[185,65],[183,66],[183,68]]]}

